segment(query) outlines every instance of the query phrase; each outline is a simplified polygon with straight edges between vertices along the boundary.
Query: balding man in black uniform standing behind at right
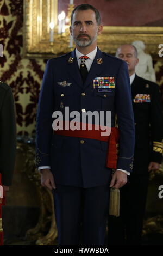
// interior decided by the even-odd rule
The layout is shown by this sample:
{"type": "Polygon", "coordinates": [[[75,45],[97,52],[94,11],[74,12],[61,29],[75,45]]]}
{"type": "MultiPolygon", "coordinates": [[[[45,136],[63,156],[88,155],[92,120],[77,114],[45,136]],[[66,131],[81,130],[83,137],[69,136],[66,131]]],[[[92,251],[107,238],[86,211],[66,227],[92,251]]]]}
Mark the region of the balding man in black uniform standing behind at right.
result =
{"type": "Polygon", "coordinates": [[[110,245],[140,245],[149,172],[159,169],[162,160],[161,96],[158,84],[135,74],[139,59],[133,45],[120,46],[116,56],[128,65],[135,118],[135,153],[133,172],[121,189],[120,218],[109,216],[108,240],[110,245]]]}

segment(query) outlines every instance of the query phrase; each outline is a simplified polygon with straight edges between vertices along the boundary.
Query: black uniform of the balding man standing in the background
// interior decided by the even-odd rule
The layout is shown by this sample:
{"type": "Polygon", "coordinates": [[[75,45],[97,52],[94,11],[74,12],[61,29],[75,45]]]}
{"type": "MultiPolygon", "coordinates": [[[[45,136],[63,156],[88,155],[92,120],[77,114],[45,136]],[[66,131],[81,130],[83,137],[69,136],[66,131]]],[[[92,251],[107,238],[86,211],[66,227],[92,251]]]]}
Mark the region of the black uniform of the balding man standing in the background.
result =
{"type": "Polygon", "coordinates": [[[131,83],[131,94],[135,118],[135,154],[133,173],[121,194],[123,212],[127,216],[127,243],[139,245],[146,208],[148,166],[151,162],[162,161],[163,115],[158,84],[135,74],[131,83]]]}

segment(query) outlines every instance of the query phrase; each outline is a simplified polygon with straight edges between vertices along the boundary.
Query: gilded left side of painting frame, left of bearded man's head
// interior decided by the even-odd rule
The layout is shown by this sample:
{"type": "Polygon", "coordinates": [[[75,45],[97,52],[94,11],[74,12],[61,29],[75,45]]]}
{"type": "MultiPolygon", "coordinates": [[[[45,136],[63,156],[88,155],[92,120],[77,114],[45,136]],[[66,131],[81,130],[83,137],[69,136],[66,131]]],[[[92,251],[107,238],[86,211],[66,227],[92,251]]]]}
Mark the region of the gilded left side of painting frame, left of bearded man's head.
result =
{"type": "MultiPolygon", "coordinates": [[[[56,34],[58,0],[24,0],[24,56],[42,57],[42,54],[53,53],[49,45],[51,21],[54,22],[56,34]]],[[[57,35],[57,38],[60,39],[60,36],[57,35]]],[[[57,46],[59,44],[58,41],[57,46]]]]}

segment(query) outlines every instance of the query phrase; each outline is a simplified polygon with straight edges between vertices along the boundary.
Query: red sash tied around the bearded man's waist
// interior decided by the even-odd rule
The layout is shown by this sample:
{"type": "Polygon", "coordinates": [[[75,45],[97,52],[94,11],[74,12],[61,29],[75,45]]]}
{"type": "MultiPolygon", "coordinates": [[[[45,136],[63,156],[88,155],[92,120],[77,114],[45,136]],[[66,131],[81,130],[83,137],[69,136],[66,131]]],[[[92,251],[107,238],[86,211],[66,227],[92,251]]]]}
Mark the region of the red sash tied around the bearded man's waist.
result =
{"type": "MultiPolygon", "coordinates": [[[[65,126],[64,126],[65,127],[65,126]]],[[[92,130],[57,130],[53,131],[54,134],[79,137],[79,138],[89,138],[97,139],[98,141],[108,142],[108,152],[106,157],[106,167],[111,169],[116,169],[117,166],[117,147],[119,139],[119,131],[117,127],[111,127],[111,133],[109,136],[101,136],[102,130],[95,130],[95,125],[92,125],[92,130]]]]}

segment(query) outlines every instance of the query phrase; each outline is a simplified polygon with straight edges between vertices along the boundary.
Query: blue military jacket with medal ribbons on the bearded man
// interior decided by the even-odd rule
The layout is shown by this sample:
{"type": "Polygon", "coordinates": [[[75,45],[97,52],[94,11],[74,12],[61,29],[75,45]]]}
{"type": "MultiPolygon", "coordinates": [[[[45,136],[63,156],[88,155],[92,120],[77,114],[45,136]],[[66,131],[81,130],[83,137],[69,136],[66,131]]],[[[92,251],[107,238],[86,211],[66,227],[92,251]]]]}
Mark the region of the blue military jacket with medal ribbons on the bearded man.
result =
{"type": "Polygon", "coordinates": [[[108,184],[108,143],[95,139],[53,135],[54,111],[111,111],[120,130],[117,168],[131,172],[134,154],[134,117],[127,64],[99,49],[83,84],[75,51],[48,60],[39,97],[36,124],[36,166],[51,166],[56,184],[96,187],[108,184]],[[114,77],[115,87],[99,92],[96,77],[114,77]],[[65,85],[65,81],[67,86],[65,85]],[[69,85],[68,85],[69,84],[69,85]]]}

